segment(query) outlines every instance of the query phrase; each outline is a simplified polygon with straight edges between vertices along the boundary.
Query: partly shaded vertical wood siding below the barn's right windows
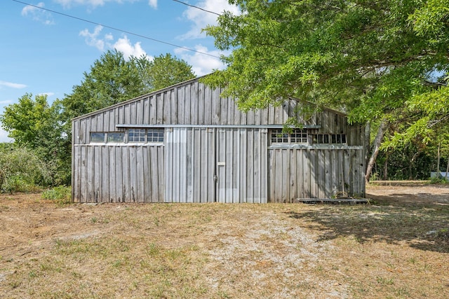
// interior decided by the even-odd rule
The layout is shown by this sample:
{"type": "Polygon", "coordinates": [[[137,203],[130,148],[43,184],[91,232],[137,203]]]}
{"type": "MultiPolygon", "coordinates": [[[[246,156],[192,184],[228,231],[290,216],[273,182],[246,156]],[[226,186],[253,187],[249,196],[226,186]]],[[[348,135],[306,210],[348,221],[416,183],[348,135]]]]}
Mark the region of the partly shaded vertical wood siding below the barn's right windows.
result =
{"type": "Polygon", "coordinates": [[[358,148],[269,149],[269,202],[365,195],[358,148]]]}

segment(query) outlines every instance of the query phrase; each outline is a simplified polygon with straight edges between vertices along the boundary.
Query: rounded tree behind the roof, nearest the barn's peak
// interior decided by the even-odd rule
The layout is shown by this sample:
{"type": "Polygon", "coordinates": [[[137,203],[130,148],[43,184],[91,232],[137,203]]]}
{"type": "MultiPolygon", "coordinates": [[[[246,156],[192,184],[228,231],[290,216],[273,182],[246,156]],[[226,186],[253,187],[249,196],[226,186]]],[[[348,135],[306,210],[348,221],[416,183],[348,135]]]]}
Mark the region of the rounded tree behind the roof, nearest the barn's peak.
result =
{"type": "Polygon", "coordinates": [[[153,60],[145,56],[131,57],[131,61],[138,68],[145,92],[160,90],[196,77],[191,65],[169,53],[156,56],[153,60]]]}

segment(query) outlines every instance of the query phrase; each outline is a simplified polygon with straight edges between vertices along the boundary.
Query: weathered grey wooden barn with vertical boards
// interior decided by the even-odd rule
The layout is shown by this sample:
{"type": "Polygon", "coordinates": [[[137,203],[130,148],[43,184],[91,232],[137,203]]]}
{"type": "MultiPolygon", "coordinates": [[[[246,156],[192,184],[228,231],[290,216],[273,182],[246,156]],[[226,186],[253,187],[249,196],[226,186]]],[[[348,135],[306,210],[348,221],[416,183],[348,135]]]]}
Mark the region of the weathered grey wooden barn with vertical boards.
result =
{"type": "Polygon", "coordinates": [[[295,202],[365,195],[364,129],[324,109],[243,113],[196,78],[72,120],[75,202],[295,202]],[[304,126],[283,132],[290,117],[304,126]]]}

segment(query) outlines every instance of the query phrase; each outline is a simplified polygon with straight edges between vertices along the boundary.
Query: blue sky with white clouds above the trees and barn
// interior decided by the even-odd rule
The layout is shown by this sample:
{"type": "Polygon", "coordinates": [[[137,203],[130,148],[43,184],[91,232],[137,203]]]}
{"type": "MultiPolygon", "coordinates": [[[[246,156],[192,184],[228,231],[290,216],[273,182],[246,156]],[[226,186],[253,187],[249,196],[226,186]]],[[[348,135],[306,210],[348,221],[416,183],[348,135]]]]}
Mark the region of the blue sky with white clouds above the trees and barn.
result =
{"type": "MultiPolygon", "coordinates": [[[[25,93],[46,94],[48,101],[62,99],[79,85],[102,53],[116,48],[125,57],[149,59],[171,53],[192,65],[196,75],[223,65],[213,39],[201,33],[215,24],[217,15],[173,0],[13,0],[0,4],[0,113],[25,93]],[[84,22],[85,19],[107,27],[84,22]],[[135,36],[110,29],[114,27],[135,36]],[[191,48],[204,55],[176,46],[191,48]]],[[[226,0],[183,0],[207,11],[238,13],[226,0]]],[[[225,53],[226,54],[226,53],[225,53]]],[[[0,129],[0,142],[9,141],[0,129]]]]}

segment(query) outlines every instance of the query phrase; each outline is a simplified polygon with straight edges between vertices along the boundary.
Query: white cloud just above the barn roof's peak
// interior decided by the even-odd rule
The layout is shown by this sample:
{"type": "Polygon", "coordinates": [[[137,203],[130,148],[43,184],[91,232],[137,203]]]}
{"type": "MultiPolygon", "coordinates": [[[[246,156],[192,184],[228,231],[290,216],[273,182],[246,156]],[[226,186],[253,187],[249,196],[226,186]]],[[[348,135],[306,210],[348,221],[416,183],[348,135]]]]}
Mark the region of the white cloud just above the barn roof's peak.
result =
{"type": "Polygon", "coordinates": [[[195,72],[196,76],[203,76],[206,74],[210,74],[214,69],[224,69],[225,64],[221,62],[221,60],[217,57],[220,57],[220,53],[217,50],[208,51],[208,48],[197,45],[194,50],[198,52],[191,52],[189,50],[183,48],[177,48],[175,50],[175,54],[185,60],[188,64],[192,65],[192,70],[195,72]],[[203,53],[210,54],[204,55],[203,53]]]}

